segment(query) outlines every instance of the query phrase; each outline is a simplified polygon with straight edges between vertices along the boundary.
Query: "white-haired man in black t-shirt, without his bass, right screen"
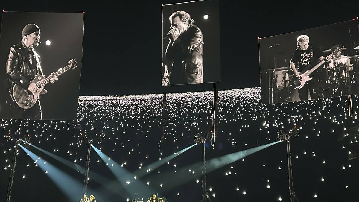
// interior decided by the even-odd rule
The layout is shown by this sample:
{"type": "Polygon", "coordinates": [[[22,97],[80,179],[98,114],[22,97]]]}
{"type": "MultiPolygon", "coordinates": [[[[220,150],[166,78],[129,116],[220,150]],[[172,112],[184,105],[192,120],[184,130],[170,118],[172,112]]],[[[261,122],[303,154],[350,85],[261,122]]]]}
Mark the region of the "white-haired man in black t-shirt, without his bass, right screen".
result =
{"type": "MultiPolygon", "coordinates": [[[[297,38],[298,46],[293,53],[292,59],[290,60],[290,68],[293,70],[294,76],[297,78],[308,65],[313,67],[322,60],[325,60],[326,62],[329,62],[331,60],[330,56],[326,56],[325,58],[317,46],[309,45],[308,43],[309,43],[309,37],[307,35],[300,35],[297,38]]],[[[311,76],[316,77],[317,75],[313,73],[311,74],[311,76]]],[[[308,90],[310,92],[312,100],[319,98],[318,93],[314,91],[313,80],[314,79],[307,81],[302,88],[298,89],[300,100],[309,99],[308,90]]]]}

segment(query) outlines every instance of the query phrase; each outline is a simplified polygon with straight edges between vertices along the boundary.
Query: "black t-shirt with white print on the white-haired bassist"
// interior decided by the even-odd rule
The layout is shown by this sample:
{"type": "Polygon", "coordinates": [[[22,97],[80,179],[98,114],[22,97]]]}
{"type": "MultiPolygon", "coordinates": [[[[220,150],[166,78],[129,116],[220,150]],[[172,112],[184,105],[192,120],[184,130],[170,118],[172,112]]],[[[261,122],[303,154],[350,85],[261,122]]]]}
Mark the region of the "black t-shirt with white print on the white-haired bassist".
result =
{"type": "Polygon", "coordinates": [[[308,65],[311,65],[311,68],[317,65],[320,62],[319,58],[321,56],[323,56],[323,54],[317,46],[309,45],[307,50],[295,50],[291,61],[296,67],[298,67],[298,71],[302,72],[302,70],[308,65]],[[311,60],[312,51],[313,60],[311,60]]]}

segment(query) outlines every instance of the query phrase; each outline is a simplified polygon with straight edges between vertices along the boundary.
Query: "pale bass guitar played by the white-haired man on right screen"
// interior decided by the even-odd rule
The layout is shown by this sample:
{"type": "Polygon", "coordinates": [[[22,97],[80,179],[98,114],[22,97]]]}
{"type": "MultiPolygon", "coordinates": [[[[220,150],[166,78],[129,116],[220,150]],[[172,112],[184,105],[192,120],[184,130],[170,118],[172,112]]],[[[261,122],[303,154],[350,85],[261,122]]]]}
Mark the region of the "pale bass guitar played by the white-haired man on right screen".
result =
{"type": "MultiPolygon", "coordinates": [[[[342,51],[341,47],[336,47],[335,49],[333,49],[331,51],[330,54],[330,58],[333,58],[334,55],[339,52],[342,51]]],[[[304,86],[304,84],[306,84],[307,81],[310,81],[313,77],[310,77],[309,75],[311,73],[313,73],[316,69],[318,69],[319,66],[321,66],[322,64],[325,63],[325,60],[322,60],[320,63],[318,63],[317,65],[315,65],[313,68],[311,68],[311,65],[306,66],[306,68],[304,68],[304,70],[302,72],[299,72],[299,77],[296,77],[295,75],[293,75],[292,78],[292,86],[294,86],[295,88],[302,88],[304,86]]]]}

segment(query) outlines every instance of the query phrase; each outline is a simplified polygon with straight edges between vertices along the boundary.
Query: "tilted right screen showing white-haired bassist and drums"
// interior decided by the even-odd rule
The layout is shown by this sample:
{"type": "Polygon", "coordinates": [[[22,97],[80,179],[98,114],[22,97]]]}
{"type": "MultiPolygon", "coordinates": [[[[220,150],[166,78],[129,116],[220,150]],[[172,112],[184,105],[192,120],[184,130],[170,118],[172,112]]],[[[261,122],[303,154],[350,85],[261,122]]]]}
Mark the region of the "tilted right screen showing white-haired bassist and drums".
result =
{"type": "Polygon", "coordinates": [[[358,19],[259,39],[262,104],[359,93],[358,19]]]}

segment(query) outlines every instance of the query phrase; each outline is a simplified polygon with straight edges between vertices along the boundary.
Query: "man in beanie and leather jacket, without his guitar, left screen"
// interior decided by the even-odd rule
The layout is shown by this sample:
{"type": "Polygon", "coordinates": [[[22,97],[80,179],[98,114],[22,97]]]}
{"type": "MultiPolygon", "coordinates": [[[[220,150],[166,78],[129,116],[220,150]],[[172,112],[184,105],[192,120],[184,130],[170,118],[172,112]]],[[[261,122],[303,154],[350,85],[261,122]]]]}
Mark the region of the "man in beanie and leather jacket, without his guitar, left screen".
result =
{"type": "MultiPolygon", "coordinates": [[[[29,93],[39,91],[36,84],[30,83],[30,81],[36,75],[42,74],[40,56],[34,51],[34,47],[37,47],[40,43],[40,28],[36,24],[27,24],[22,31],[22,40],[10,48],[8,60],[6,61],[7,80],[11,86],[16,83],[20,87],[27,89],[29,93]]],[[[56,80],[57,77],[51,78],[50,83],[54,83],[56,80]]],[[[9,115],[22,119],[42,119],[39,100],[33,107],[21,109],[14,102],[11,88],[9,86],[8,97],[6,97],[9,115]]]]}

